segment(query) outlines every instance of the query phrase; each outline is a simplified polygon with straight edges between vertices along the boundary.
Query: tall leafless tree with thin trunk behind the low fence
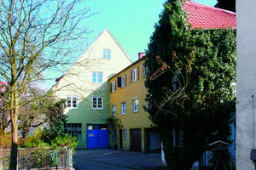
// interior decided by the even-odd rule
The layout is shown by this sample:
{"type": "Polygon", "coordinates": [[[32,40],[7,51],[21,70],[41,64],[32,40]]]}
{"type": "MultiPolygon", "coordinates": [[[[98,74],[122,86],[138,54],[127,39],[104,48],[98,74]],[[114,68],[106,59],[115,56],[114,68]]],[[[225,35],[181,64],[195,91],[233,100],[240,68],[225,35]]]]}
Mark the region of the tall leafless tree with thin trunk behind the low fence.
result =
{"type": "Polygon", "coordinates": [[[49,68],[72,57],[75,42],[87,32],[84,19],[93,14],[81,0],[3,0],[0,2],[0,82],[9,85],[12,146],[9,169],[17,167],[19,111],[42,96],[22,99],[49,68]]]}

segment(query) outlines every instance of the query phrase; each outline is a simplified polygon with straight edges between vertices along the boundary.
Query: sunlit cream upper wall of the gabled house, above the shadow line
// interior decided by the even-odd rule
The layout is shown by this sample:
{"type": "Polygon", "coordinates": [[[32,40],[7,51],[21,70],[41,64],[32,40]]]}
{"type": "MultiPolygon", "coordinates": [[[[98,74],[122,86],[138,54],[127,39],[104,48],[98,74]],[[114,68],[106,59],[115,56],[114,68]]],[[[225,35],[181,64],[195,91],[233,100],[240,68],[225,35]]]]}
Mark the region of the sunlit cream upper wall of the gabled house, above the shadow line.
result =
{"type": "Polygon", "coordinates": [[[93,71],[102,72],[103,82],[107,82],[114,73],[128,65],[131,65],[131,59],[119,47],[112,34],[105,30],[57,83],[55,88],[61,90],[56,91],[55,95],[61,99],[66,99],[68,95],[84,99],[102,86],[102,83],[92,83],[93,71]],[[102,58],[104,48],[111,49],[111,59],[102,58]]]}

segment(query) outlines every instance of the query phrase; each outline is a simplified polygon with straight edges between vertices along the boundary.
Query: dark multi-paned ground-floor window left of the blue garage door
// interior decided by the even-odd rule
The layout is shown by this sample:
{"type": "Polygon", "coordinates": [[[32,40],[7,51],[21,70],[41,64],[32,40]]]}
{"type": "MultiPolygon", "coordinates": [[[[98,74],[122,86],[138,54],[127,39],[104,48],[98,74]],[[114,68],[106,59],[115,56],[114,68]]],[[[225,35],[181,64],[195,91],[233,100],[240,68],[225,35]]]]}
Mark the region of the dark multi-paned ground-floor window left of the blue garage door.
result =
{"type": "Polygon", "coordinates": [[[66,123],[64,125],[64,133],[68,133],[77,137],[79,141],[82,140],[82,123],[66,123]]]}

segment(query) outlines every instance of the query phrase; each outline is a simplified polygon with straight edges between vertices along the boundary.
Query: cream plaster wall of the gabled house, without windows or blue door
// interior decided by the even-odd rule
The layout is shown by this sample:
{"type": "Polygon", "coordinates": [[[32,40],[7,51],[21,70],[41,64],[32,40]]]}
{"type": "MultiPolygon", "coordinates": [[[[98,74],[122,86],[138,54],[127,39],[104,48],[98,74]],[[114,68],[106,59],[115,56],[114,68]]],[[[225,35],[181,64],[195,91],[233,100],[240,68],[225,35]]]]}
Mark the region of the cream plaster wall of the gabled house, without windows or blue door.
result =
{"type": "Polygon", "coordinates": [[[82,141],[79,142],[79,149],[87,148],[87,124],[108,123],[108,78],[130,64],[131,59],[113,35],[105,30],[53,88],[56,90],[56,98],[67,99],[67,96],[79,98],[78,109],[66,109],[65,111],[68,123],[82,123],[82,141]],[[104,48],[111,49],[111,59],[103,59],[104,48]],[[102,72],[102,83],[92,82],[93,71],[102,72]],[[92,109],[93,96],[103,98],[103,110],[92,109]]]}

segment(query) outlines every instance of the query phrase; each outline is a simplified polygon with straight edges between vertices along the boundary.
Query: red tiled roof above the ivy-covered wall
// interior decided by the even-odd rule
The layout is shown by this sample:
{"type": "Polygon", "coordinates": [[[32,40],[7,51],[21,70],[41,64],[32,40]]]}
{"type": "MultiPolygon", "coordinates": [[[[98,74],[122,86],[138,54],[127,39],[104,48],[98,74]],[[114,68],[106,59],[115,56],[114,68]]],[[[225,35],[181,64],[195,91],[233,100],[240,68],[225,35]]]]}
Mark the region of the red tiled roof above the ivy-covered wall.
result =
{"type": "Polygon", "coordinates": [[[236,13],[191,2],[190,0],[184,3],[183,10],[188,13],[191,29],[228,28],[230,26],[236,29],[236,13]]]}

